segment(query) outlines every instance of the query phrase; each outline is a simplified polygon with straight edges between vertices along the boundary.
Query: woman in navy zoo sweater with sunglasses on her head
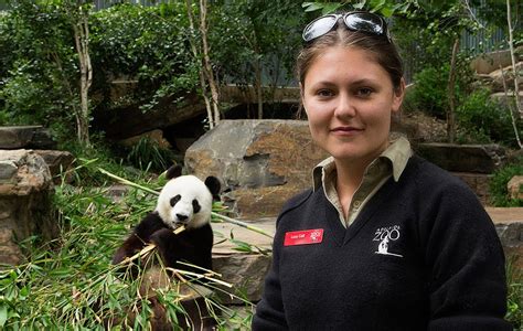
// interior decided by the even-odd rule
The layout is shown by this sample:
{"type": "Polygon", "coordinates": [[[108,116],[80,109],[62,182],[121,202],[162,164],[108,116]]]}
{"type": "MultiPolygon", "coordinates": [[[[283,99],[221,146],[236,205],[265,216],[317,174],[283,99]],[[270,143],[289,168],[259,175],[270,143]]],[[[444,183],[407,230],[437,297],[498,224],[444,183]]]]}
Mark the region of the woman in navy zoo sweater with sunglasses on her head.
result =
{"type": "Polygon", "coordinates": [[[325,15],[303,40],[302,104],[331,157],[278,217],[253,330],[510,330],[488,214],[405,138],[389,141],[405,82],[384,20],[325,15]]]}

